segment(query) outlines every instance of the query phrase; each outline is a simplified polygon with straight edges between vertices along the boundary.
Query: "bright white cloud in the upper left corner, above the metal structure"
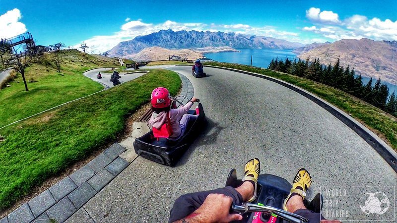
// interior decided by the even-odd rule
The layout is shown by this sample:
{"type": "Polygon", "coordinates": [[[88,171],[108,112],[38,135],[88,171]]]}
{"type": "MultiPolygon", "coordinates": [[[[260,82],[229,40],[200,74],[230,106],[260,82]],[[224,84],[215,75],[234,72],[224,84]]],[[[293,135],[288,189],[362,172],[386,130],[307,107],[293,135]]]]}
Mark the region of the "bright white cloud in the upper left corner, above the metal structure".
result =
{"type": "Polygon", "coordinates": [[[7,39],[26,32],[25,24],[19,22],[21,18],[21,12],[17,8],[0,15],[0,38],[7,39]]]}

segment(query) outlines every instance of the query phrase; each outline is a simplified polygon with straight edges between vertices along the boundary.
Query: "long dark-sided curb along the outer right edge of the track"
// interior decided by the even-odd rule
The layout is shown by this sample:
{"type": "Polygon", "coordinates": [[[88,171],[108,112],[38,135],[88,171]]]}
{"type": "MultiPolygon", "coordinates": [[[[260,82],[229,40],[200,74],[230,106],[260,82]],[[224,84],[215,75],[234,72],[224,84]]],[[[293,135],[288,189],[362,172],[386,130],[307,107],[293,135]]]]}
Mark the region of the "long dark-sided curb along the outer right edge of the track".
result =
{"type": "MultiPolygon", "coordinates": [[[[186,65],[177,65],[177,66],[186,66],[186,65]]],[[[345,125],[347,125],[349,128],[351,128],[354,132],[356,132],[361,138],[363,138],[372,148],[375,149],[375,151],[383,158],[385,161],[392,167],[396,172],[397,172],[397,153],[394,151],[388,144],[386,144],[381,138],[379,138],[375,133],[373,133],[371,130],[369,130],[367,127],[362,125],[360,122],[355,120],[354,118],[350,117],[350,115],[346,114],[344,111],[341,111],[340,109],[336,108],[335,106],[331,105],[330,103],[326,102],[325,100],[315,96],[314,94],[299,88],[295,85],[292,85],[288,82],[269,77],[263,74],[257,74],[257,73],[252,73],[244,70],[237,70],[237,69],[232,69],[232,68],[227,68],[227,67],[220,67],[220,66],[212,66],[212,65],[204,65],[206,67],[212,67],[212,68],[218,68],[218,69],[224,69],[224,70],[230,70],[230,71],[235,71],[243,74],[248,74],[251,76],[255,77],[260,77],[272,82],[275,82],[277,84],[280,84],[284,87],[287,87],[303,96],[306,98],[310,99],[317,105],[321,106],[328,112],[330,112],[333,116],[335,116],[337,119],[342,121],[345,125]]]]}

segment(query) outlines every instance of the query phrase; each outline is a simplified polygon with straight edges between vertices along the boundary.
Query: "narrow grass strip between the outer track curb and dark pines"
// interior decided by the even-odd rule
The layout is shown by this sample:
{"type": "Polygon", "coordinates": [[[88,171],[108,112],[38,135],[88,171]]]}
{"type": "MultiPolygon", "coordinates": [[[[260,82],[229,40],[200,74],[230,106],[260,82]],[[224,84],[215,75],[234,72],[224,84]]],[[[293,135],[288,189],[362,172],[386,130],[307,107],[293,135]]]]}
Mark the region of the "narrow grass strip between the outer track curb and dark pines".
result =
{"type": "Polygon", "coordinates": [[[393,117],[388,116],[384,111],[371,106],[350,94],[306,78],[248,65],[219,62],[207,62],[205,65],[229,67],[264,74],[303,88],[346,113],[350,113],[353,118],[369,127],[397,151],[397,121],[393,117]]]}

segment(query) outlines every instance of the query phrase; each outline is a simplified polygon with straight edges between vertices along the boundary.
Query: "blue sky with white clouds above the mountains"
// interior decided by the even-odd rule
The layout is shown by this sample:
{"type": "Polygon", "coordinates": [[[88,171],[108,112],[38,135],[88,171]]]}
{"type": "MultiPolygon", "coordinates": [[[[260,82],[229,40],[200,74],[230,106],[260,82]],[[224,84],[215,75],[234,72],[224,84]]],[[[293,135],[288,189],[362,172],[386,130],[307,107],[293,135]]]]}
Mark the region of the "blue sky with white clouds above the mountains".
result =
{"type": "Polygon", "coordinates": [[[137,35],[168,28],[237,32],[305,44],[363,37],[393,41],[397,0],[0,0],[0,37],[29,31],[39,45],[84,42],[101,53],[137,35]]]}

